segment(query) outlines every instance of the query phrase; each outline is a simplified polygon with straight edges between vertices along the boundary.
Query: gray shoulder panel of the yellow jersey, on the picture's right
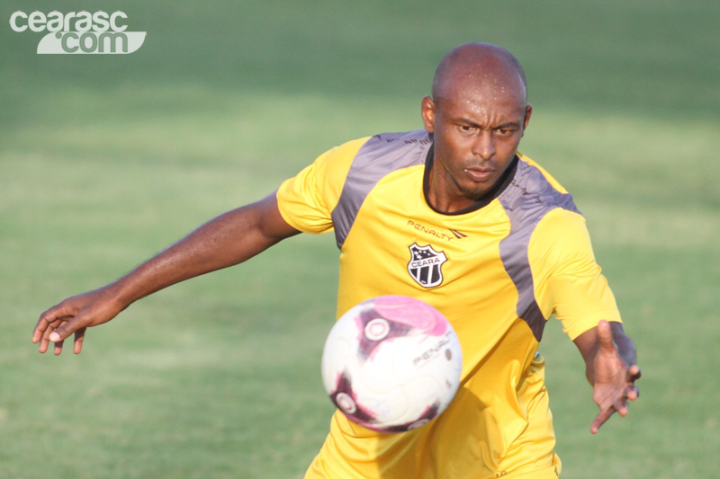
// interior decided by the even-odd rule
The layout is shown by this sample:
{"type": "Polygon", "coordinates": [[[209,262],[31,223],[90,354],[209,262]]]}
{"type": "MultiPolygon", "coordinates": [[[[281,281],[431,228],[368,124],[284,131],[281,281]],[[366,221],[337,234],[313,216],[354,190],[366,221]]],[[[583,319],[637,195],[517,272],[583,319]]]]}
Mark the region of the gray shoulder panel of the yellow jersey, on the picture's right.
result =
{"type": "Polygon", "coordinates": [[[500,204],[510,218],[510,234],[500,241],[500,258],[518,288],[518,317],[522,318],[539,342],[546,319],[535,298],[533,275],[527,257],[530,236],[548,211],[563,208],[580,213],[572,196],[561,193],[545,180],[535,166],[522,160],[508,188],[500,193],[500,204]]]}

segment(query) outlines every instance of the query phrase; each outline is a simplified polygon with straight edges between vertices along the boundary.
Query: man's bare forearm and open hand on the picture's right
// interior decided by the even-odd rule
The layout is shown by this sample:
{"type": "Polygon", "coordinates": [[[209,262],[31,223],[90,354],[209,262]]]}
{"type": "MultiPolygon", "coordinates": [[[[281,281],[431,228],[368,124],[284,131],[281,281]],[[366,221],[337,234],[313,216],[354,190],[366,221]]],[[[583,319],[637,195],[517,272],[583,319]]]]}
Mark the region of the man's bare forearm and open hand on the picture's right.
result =
{"type": "Polygon", "coordinates": [[[595,434],[615,412],[626,416],[627,400],[635,401],[639,395],[635,386],[635,380],[640,378],[635,344],[626,335],[622,324],[607,321],[600,321],[574,342],[585,359],[585,375],[592,386],[592,399],[600,408],[590,426],[590,432],[595,434]]]}

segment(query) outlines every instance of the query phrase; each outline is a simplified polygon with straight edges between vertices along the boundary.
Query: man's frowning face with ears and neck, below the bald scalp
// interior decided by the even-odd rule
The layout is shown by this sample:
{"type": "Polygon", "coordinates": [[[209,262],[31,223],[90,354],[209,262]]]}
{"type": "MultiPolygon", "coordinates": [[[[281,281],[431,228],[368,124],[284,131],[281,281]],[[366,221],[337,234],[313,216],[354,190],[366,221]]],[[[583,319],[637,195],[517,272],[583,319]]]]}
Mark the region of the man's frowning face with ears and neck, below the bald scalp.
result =
{"type": "Polygon", "coordinates": [[[515,156],[532,107],[517,89],[455,88],[422,101],[425,128],[435,138],[430,181],[434,206],[470,206],[500,180],[515,156]]]}

